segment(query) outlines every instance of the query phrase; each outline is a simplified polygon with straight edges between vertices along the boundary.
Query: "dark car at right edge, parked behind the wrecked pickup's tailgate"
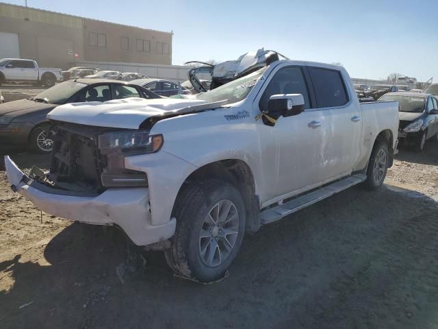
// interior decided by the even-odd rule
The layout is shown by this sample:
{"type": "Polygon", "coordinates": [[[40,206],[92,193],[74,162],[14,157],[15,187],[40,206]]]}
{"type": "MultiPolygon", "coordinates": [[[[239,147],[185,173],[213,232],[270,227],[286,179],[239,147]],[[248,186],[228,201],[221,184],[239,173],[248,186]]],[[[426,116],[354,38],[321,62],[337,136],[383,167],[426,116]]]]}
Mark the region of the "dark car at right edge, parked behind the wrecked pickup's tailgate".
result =
{"type": "Polygon", "coordinates": [[[388,93],[379,101],[398,101],[400,141],[414,143],[417,151],[424,150],[429,138],[438,142],[437,97],[426,93],[388,93]]]}

